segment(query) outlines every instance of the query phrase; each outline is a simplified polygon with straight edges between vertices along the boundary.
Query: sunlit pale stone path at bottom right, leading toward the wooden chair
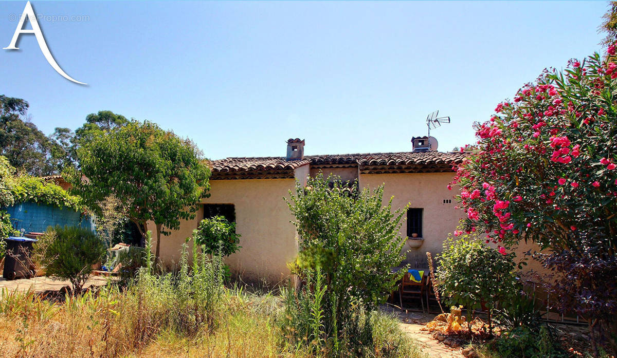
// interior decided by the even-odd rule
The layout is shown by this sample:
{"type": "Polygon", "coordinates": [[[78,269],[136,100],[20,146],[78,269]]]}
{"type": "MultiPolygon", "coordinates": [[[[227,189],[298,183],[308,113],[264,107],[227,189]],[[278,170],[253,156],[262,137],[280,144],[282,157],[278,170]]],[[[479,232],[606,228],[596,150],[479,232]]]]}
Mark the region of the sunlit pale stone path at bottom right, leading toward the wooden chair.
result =
{"type": "Polygon", "coordinates": [[[430,322],[435,317],[435,314],[423,314],[420,312],[400,312],[399,309],[381,307],[383,311],[397,315],[399,317],[399,326],[410,338],[418,341],[421,345],[422,352],[429,358],[464,358],[462,348],[450,348],[443,343],[435,340],[433,336],[426,331],[421,331],[427,322],[430,322]]]}

